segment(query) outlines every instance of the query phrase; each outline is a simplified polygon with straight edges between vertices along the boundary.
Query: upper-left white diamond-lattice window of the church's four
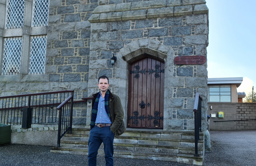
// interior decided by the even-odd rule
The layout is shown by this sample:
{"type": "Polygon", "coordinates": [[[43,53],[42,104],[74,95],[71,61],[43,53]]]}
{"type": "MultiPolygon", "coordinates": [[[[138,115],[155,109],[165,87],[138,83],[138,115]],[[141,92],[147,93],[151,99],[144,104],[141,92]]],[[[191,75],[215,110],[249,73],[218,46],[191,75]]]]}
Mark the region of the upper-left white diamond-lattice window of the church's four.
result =
{"type": "Polygon", "coordinates": [[[21,28],[24,22],[25,0],[8,0],[5,28],[21,28]]]}

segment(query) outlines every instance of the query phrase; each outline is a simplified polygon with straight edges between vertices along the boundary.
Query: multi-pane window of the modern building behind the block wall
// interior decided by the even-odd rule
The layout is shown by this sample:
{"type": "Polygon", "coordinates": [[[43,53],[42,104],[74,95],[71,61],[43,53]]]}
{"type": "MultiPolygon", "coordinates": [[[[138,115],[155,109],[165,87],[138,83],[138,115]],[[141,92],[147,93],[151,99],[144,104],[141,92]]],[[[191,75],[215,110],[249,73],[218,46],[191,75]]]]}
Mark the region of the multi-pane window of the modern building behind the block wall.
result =
{"type": "Polygon", "coordinates": [[[209,102],[231,102],[231,86],[209,86],[209,102]]]}

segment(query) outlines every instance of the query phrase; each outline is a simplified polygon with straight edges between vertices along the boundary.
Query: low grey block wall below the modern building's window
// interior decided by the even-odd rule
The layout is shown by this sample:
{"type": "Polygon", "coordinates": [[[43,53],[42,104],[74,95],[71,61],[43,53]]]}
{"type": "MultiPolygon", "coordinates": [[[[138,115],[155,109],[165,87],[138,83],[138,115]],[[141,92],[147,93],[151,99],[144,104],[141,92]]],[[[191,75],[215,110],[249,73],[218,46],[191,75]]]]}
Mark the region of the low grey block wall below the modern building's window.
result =
{"type": "Polygon", "coordinates": [[[216,114],[216,118],[210,118],[210,130],[245,130],[256,129],[256,104],[252,103],[213,103],[209,102],[209,116],[216,114]],[[210,110],[210,106],[213,109],[210,110]],[[218,117],[218,112],[224,113],[224,118],[218,117]],[[237,121],[233,121],[237,120],[237,121]],[[248,121],[239,121],[248,120],[248,121]],[[214,122],[227,121],[227,122],[214,122]]]}

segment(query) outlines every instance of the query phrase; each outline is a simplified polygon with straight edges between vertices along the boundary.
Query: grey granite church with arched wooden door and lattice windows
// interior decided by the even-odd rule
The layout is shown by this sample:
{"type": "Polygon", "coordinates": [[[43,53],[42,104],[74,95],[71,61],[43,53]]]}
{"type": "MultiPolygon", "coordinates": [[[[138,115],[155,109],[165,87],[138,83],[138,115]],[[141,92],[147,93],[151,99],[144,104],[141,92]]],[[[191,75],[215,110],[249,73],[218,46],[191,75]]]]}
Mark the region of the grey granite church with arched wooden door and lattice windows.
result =
{"type": "MultiPolygon", "coordinates": [[[[0,0],[0,9],[1,97],[74,90],[81,100],[105,75],[127,128],[194,130],[199,92],[206,131],[207,61],[174,63],[207,57],[205,0],[0,0]]],[[[89,126],[91,107],[73,110],[74,126],[89,126]]]]}

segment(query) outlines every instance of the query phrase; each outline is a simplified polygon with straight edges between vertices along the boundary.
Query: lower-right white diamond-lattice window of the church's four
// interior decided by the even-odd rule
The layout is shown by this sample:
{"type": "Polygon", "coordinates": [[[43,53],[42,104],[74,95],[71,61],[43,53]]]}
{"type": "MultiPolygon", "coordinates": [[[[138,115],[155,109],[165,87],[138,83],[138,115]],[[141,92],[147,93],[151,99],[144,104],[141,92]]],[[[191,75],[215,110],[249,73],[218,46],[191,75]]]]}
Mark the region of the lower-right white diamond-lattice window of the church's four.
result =
{"type": "Polygon", "coordinates": [[[44,74],[46,36],[32,36],[28,74],[44,74]]]}

